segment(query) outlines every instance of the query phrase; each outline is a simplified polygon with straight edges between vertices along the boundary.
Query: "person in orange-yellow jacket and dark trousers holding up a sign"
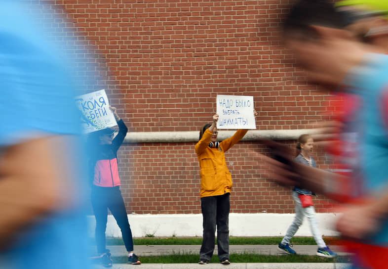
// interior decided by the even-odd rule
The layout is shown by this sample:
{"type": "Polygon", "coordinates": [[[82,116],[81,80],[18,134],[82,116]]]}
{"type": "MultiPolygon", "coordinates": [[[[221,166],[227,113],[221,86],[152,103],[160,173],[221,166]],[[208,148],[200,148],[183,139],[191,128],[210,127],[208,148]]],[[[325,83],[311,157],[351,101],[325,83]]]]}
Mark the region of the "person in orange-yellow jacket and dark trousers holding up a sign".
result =
{"type": "MultiPolygon", "coordinates": [[[[257,114],[254,111],[255,115],[257,114]]],[[[229,210],[232,175],[225,161],[225,152],[237,143],[248,130],[237,130],[230,138],[217,141],[218,114],[213,123],[205,124],[199,131],[195,145],[201,167],[201,211],[203,217],[203,240],[198,264],[209,263],[214,251],[217,225],[218,258],[221,264],[229,265],[229,210]]]]}

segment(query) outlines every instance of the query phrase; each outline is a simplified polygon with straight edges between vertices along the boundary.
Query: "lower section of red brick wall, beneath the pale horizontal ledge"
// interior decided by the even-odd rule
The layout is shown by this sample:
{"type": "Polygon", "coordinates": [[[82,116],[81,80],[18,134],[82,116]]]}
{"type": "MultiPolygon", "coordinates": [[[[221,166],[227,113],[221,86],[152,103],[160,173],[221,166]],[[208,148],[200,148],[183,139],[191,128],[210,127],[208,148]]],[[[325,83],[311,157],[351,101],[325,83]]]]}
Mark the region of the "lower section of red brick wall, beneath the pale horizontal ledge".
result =
{"type": "MultiPolygon", "coordinates": [[[[118,157],[122,192],[129,213],[200,213],[199,166],[194,144],[142,143],[122,146],[118,157]]],[[[294,146],[294,141],[291,144],[294,146]]],[[[250,151],[254,150],[267,151],[254,141],[244,141],[226,154],[228,168],[233,175],[231,211],[293,212],[290,188],[280,187],[269,179],[270,171],[266,164],[249,156],[250,151]]],[[[323,157],[321,159],[318,162],[325,164],[323,157]]],[[[317,212],[331,212],[333,204],[323,197],[316,198],[315,202],[317,212]]]]}

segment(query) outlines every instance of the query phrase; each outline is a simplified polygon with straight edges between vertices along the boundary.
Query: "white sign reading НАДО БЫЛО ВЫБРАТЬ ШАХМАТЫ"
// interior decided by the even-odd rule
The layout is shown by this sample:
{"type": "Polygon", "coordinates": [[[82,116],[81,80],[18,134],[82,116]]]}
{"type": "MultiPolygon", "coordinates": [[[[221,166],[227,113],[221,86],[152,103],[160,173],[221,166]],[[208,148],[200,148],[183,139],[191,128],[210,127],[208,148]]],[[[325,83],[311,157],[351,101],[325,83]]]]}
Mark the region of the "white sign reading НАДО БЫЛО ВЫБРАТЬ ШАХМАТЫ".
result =
{"type": "Polygon", "coordinates": [[[217,129],[256,129],[253,96],[217,95],[217,129]]]}

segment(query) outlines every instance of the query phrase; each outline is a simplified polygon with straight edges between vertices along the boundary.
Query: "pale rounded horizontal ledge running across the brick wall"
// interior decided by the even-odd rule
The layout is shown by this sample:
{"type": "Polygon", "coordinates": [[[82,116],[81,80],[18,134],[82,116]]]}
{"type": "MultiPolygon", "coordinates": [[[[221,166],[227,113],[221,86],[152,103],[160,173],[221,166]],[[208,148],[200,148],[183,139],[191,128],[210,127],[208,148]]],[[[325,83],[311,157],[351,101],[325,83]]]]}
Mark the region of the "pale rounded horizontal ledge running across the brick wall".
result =
{"type": "MultiPolygon", "coordinates": [[[[313,134],[317,129],[300,130],[249,130],[243,141],[255,141],[259,138],[270,138],[273,140],[294,140],[301,134],[313,134]]],[[[231,137],[235,131],[220,130],[220,140],[231,137]]],[[[125,143],[151,143],[151,142],[196,142],[199,138],[198,131],[192,132],[132,132],[125,136],[125,143]]]]}

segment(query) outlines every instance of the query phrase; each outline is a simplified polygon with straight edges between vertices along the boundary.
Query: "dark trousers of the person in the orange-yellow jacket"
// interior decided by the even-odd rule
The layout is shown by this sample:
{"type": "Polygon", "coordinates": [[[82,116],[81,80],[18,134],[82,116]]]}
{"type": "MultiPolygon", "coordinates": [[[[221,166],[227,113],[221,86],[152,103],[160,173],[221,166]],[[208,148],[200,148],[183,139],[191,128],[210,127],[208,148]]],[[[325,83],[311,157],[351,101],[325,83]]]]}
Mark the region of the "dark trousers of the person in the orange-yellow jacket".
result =
{"type": "Polygon", "coordinates": [[[203,240],[199,259],[211,260],[217,225],[218,258],[229,259],[229,211],[230,193],[201,198],[203,240]]]}

